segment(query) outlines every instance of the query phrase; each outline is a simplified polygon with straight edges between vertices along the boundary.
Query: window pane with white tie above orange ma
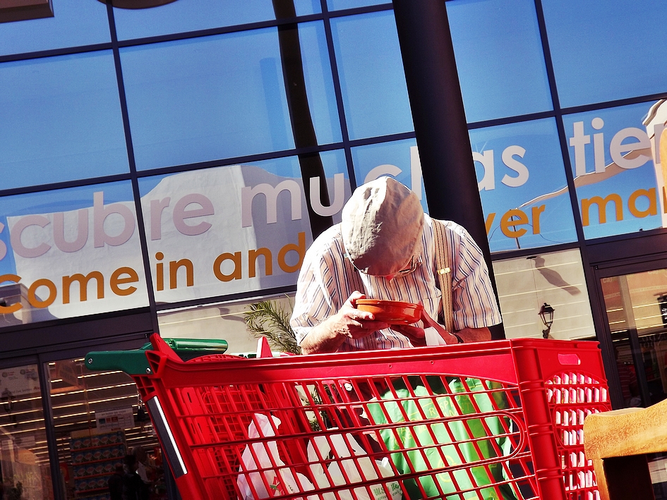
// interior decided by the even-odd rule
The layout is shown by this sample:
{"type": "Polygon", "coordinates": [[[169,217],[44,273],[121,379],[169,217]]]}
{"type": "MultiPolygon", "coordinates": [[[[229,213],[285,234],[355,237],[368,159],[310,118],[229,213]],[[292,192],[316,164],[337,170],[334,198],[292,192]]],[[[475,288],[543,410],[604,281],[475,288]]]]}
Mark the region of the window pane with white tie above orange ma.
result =
{"type": "Polygon", "coordinates": [[[666,122],[663,101],[563,117],[586,238],[664,226],[665,181],[653,160],[666,122]]]}

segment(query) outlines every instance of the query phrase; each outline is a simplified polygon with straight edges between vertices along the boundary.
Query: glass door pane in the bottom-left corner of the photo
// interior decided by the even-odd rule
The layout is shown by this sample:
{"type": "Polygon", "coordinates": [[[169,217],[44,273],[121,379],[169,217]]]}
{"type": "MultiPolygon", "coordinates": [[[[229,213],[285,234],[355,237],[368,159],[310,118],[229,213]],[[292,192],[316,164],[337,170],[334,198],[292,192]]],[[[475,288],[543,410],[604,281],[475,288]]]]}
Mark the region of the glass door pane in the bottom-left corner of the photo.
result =
{"type": "Polygon", "coordinates": [[[53,499],[37,365],[0,370],[0,478],[6,499],[53,499]],[[20,483],[20,484],[19,484],[20,483]],[[19,488],[23,487],[23,494],[19,488]]]}

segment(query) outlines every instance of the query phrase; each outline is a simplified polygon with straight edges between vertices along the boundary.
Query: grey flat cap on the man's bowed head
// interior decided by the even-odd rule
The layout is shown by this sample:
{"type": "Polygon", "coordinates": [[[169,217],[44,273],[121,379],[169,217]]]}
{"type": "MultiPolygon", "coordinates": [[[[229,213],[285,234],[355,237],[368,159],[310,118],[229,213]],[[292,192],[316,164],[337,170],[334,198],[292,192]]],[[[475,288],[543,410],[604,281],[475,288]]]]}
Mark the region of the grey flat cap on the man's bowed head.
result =
{"type": "Polygon", "coordinates": [[[343,207],[343,245],[359,271],[397,274],[415,254],[423,220],[417,195],[395,178],[380,177],[356,188],[343,207]]]}

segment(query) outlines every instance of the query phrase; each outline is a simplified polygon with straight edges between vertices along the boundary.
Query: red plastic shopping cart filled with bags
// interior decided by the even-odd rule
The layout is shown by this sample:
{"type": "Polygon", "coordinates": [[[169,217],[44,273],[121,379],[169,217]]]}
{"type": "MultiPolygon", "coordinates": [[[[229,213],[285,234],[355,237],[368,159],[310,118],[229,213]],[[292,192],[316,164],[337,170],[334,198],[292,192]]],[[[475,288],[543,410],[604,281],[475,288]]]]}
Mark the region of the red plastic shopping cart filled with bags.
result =
{"type": "Polygon", "coordinates": [[[582,434],[611,409],[595,342],[184,362],[150,340],[130,374],[188,500],[599,499],[582,434]]]}

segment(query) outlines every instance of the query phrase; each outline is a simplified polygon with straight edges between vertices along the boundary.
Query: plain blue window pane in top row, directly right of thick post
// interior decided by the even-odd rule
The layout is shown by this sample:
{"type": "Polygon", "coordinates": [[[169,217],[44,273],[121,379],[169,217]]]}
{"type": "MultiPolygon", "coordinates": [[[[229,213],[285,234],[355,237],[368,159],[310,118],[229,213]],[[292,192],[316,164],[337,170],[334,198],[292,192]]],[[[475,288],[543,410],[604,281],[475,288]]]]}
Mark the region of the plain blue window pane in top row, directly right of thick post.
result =
{"type": "Polygon", "coordinates": [[[552,109],[533,0],[445,5],[467,121],[552,109]]]}

